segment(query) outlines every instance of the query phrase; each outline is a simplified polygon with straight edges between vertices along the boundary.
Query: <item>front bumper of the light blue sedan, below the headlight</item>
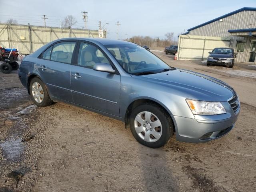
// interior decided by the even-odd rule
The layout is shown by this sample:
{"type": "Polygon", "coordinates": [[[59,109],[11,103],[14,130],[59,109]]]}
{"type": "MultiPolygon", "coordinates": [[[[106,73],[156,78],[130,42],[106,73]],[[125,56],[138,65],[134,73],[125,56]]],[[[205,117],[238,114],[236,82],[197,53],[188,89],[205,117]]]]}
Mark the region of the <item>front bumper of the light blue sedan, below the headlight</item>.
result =
{"type": "Polygon", "coordinates": [[[232,130],[240,112],[236,113],[228,102],[222,102],[227,113],[221,115],[194,115],[195,118],[172,116],[176,128],[176,140],[191,143],[208,142],[226,135],[232,130]]]}

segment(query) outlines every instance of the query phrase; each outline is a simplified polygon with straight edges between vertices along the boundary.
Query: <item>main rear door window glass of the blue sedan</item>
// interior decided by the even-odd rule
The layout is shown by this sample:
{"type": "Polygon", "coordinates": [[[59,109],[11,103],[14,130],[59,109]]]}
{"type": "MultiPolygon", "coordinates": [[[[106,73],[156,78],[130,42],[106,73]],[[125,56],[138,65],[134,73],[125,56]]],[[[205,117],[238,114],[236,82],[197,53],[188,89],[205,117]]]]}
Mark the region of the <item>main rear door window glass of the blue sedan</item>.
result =
{"type": "Polygon", "coordinates": [[[50,60],[71,64],[76,42],[61,42],[53,46],[50,60]]]}

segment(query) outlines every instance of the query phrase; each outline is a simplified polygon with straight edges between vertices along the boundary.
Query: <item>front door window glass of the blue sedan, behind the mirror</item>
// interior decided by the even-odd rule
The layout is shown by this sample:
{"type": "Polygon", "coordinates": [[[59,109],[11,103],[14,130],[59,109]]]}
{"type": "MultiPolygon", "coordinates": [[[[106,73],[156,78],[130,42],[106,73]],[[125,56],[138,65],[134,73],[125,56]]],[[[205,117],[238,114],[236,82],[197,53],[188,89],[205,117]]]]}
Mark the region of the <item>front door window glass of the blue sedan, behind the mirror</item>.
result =
{"type": "Polygon", "coordinates": [[[96,63],[109,63],[106,56],[94,45],[80,43],[78,52],[78,65],[93,68],[96,63]]]}

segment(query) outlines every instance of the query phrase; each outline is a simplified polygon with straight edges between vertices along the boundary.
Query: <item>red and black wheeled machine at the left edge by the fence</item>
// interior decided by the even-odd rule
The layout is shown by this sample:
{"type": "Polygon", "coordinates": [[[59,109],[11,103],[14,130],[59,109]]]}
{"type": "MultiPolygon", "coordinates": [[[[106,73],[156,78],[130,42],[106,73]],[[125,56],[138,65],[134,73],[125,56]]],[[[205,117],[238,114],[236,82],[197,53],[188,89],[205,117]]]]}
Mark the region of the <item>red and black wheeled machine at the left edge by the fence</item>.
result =
{"type": "Polygon", "coordinates": [[[0,47],[0,62],[4,62],[0,65],[0,70],[3,73],[10,73],[12,70],[18,70],[19,64],[19,52],[17,49],[7,49],[0,47]]]}

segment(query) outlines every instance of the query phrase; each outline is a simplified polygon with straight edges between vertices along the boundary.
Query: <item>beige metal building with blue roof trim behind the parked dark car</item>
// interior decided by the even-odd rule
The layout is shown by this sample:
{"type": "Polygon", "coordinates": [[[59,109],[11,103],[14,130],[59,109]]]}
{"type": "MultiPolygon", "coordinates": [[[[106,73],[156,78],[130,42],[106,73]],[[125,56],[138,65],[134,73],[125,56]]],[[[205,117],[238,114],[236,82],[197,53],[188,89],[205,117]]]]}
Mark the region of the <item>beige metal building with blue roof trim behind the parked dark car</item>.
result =
{"type": "MultiPolygon", "coordinates": [[[[233,48],[238,53],[236,62],[256,63],[256,8],[244,7],[190,28],[179,39],[179,52],[189,52],[190,49],[187,58],[191,59],[201,58],[200,54],[205,59],[208,50],[220,46],[233,48]],[[183,43],[182,40],[187,41],[183,43]],[[196,42],[196,47],[188,46],[193,45],[192,40],[196,42]],[[198,56],[199,50],[202,51],[198,56]]],[[[181,55],[180,59],[186,58],[186,54],[181,55]]]]}

